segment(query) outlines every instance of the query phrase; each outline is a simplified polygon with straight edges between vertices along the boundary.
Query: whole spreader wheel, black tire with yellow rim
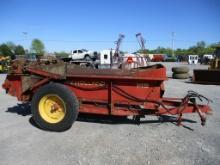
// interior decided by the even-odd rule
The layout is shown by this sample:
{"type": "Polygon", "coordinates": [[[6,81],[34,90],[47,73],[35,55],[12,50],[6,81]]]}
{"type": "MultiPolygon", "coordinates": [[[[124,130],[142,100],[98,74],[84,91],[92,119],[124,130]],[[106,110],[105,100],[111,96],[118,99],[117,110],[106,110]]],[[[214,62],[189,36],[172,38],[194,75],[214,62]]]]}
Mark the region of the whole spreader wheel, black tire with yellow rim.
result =
{"type": "Polygon", "coordinates": [[[58,83],[47,84],[34,94],[31,112],[34,121],[45,130],[65,131],[76,120],[79,103],[66,86],[58,83]]]}

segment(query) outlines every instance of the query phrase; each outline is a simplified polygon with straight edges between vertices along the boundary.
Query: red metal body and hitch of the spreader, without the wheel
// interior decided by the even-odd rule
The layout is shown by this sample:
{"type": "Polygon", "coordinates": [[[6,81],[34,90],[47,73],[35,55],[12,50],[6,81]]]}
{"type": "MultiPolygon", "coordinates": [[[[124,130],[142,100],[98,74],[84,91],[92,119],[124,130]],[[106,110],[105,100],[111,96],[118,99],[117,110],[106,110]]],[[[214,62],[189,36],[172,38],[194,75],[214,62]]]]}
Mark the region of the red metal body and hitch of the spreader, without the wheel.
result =
{"type": "Polygon", "coordinates": [[[166,68],[154,65],[140,69],[90,69],[65,63],[14,63],[3,88],[19,101],[28,102],[41,86],[53,81],[67,86],[77,96],[81,113],[118,116],[179,115],[197,112],[204,121],[210,110],[191,97],[164,98],[166,68]]]}

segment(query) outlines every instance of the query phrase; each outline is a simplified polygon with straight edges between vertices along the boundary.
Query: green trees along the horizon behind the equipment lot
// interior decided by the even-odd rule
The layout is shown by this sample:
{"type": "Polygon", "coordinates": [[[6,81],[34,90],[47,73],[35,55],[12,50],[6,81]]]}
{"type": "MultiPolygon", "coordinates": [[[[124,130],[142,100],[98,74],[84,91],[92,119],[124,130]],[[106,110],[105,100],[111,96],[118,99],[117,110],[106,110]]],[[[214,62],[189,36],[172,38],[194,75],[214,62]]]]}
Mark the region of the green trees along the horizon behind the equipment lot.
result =
{"type": "MultiPolygon", "coordinates": [[[[196,45],[193,45],[187,49],[177,48],[174,50],[176,56],[186,56],[186,55],[204,55],[204,54],[213,54],[215,47],[220,45],[220,42],[213,44],[206,44],[204,41],[199,41],[196,45]]],[[[156,49],[146,49],[143,51],[138,50],[137,52],[142,52],[145,54],[167,54],[172,55],[171,48],[157,47],[156,49]]],[[[25,54],[36,54],[41,56],[45,53],[44,43],[39,39],[33,39],[29,50],[25,50],[22,45],[15,45],[13,42],[7,42],[0,45],[0,55],[13,57],[15,55],[25,55],[25,54]]],[[[67,56],[68,53],[54,52],[57,56],[67,56]]]]}

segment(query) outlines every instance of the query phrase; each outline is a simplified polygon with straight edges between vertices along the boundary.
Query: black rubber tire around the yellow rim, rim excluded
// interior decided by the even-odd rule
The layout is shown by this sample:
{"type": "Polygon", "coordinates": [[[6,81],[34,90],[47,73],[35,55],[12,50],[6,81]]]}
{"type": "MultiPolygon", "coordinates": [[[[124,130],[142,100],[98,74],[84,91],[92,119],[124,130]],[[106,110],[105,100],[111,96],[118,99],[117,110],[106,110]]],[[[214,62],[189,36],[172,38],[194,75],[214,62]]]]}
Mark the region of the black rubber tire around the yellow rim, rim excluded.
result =
{"type": "Polygon", "coordinates": [[[61,132],[69,129],[77,119],[79,112],[79,103],[74,93],[70,89],[68,89],[65,85],[58,83],[49,83],[39,88],[37,92],[34,94],[31,101],[31,112],[34,121],[40,128],[49,131],[61,132]],[[47,94],[56,94],[65,103],[66,106],[65,116],[63,120],[61,120],[58,123],[49,123],[45,121],[39,113],[38,110],[39,101],[43,96],[47,94]]]}

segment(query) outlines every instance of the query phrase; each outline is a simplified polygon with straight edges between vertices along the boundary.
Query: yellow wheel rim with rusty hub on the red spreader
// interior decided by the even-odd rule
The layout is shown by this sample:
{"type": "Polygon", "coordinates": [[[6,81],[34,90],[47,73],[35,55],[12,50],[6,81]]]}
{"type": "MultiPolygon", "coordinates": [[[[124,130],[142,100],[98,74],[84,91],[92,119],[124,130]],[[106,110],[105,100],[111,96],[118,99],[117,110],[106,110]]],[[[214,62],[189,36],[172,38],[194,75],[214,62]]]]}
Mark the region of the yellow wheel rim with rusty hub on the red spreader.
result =
{"type": "Polygon", "coordinates": [[[40,116],[48,123],[59,123],[66,114],[64,101],[57,95],[49,94],[40,99],[40,116]]]}

